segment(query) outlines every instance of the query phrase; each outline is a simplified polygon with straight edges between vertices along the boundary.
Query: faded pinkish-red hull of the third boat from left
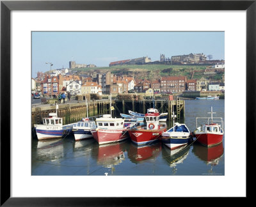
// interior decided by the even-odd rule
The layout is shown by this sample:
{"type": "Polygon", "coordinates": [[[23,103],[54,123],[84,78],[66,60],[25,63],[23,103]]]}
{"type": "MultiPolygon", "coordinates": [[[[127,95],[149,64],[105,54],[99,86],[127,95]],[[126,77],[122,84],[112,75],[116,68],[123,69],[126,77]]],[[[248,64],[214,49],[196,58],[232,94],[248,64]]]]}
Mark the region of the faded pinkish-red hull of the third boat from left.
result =
{"type": "Polygon", "coordinates": [[[93,138],[99,144],[108,144],[111,142],[119,142],[128,138],[127,131],[124,129],[120,130],[95,130],[92,132],[93,138]]]}

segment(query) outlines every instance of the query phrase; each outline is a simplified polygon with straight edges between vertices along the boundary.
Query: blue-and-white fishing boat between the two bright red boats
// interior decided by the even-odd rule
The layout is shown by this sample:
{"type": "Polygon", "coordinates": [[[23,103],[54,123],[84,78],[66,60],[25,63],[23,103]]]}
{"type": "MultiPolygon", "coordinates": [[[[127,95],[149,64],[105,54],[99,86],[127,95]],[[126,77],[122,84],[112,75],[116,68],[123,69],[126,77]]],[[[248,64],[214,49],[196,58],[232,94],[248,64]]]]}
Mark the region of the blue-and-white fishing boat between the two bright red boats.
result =
{"type": "Polygon", "coordinates": [[[175,150],[192,141],[189,128],[184,123],[175,123],[177,116],[172,115],[173,127],[162,133],[161,142],[171,150],[175,150]]]}

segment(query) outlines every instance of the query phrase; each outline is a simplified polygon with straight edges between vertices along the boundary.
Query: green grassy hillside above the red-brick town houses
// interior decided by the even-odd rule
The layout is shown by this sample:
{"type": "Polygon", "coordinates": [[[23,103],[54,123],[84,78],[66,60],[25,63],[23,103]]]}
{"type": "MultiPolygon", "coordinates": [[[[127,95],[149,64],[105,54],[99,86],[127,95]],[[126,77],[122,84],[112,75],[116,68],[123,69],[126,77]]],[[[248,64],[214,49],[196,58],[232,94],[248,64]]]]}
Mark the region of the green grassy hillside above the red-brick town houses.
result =
{"type": "Polygon", "coordinates": [[[191,66],[191,65],[120,65],[111,67],[97,68],[75,68],[72,69],[78,74],[96,71],[97,73],[111,72],[116,75],[134,75],[140,79],[148,79],[150,81],[160,79],[164,76],[187,76],[188,79],[200,79],[202,77],[211,79],[212,81],[221,81],[224,71],[218,71],[216,74],[204,74],[207,66],[191,66]]]}

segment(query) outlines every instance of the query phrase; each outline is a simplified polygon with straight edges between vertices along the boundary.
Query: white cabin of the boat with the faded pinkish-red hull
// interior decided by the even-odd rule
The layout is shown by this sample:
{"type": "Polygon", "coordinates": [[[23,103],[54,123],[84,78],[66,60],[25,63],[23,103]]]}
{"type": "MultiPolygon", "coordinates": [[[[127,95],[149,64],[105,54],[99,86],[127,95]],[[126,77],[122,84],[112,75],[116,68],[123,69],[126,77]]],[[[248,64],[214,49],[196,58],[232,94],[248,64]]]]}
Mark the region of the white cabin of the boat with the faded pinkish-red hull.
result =
{"type": "Polygon", "coordinates": [[[103,116],[102,118],[97,118],[97,127],[100,129],[115,130],[118,128],[124,128],[124,119],[122,118],[111,118],[111,116],[103,116]]]}

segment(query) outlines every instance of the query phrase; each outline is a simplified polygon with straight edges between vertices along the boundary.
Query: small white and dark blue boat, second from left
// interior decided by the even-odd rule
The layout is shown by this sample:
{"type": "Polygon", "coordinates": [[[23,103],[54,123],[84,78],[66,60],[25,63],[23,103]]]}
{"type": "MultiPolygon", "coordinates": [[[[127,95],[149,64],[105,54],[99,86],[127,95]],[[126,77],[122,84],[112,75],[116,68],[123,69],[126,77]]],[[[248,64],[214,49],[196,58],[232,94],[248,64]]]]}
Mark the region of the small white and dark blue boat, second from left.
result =
{"type": "Polygon", "coordinates": [[[72,132],[74,133],[75,140],[79,141],[81,139],[92,138],[92,131],[96,128],[95,121],[92,121],[89,118],[83,118],[73,126],[72,132]]]}

